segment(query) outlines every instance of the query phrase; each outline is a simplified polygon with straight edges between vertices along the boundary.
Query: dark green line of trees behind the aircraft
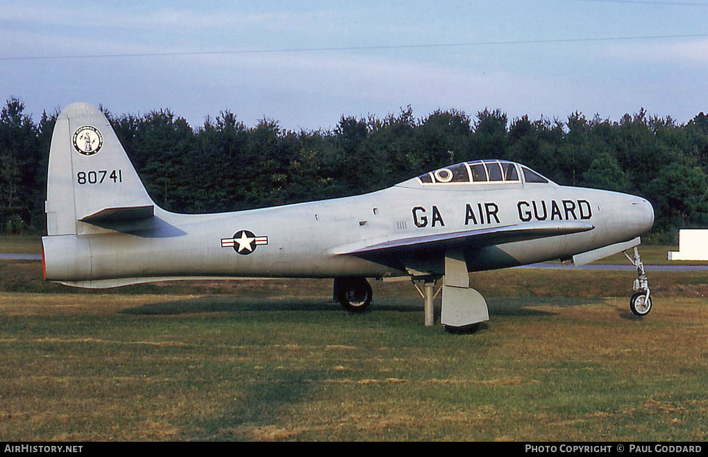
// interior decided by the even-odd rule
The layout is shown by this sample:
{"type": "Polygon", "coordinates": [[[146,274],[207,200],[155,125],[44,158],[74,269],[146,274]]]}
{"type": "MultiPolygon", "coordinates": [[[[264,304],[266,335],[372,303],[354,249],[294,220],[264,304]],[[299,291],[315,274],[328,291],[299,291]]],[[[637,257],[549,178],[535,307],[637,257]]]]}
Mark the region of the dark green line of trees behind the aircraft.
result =
{"type": "MultiPolygon", "coordinates": [[[[25,115],[18,98],[0,113],[0,227],[42,231],[47,156],[59,113],[25,115]]],[[[192,127],[169,109],[114,115],[101,108],[154,201],[173,212],[223,212],[379,190],[450,163],[506,158],[556,183],[631,192],[656,212],[651,238],[708,226],[708,117],[685,124],[645,110],[619,120],[573,112],[567,120],[501,110],[411,107],[379,118],[342,115],[329,130],[253,127],[225,110],[192,127]]]]}

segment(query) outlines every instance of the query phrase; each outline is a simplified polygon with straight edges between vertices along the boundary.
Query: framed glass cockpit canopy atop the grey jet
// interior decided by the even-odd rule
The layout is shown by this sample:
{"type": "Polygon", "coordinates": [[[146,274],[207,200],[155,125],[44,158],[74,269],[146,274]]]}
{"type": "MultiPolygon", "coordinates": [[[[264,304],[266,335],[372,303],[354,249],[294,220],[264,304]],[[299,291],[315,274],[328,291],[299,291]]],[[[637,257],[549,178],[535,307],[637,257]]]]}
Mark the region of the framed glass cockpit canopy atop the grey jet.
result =
{"type": "Polygon", "coordinates": [[[510,161],[484,160],[456,163],[418,176],[421,185],[549,183],[534,170],[510,161]]]}

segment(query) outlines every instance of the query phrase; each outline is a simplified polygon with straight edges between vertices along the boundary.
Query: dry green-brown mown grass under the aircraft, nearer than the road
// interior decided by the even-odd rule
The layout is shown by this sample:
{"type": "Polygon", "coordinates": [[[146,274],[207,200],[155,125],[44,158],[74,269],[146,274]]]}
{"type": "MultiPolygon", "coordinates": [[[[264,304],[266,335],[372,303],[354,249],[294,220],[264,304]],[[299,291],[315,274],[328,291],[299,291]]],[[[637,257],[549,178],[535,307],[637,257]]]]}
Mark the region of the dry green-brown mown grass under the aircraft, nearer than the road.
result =
{"type": "Polygon", "coordinates": [[[452,335],[405,282],[350,315],[326,280],[105,293],[0,261],[0,441],[704,441],[707,277],[650,272],[639,319],[632,272],[473,274],[491,320],[452,335]]]}

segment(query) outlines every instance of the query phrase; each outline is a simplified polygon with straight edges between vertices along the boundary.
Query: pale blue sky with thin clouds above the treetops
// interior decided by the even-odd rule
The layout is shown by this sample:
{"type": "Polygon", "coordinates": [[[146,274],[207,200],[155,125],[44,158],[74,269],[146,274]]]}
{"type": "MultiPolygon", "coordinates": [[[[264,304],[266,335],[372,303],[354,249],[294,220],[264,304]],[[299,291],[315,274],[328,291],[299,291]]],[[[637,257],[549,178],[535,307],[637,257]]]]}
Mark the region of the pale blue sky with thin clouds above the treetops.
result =
{"type": "Polygon", "coordinates": [[[0,0],[0,91],[35,121],[84,101],[194,128],[408,106],[684,123],[708,112],[708,0],[0,0]]]}

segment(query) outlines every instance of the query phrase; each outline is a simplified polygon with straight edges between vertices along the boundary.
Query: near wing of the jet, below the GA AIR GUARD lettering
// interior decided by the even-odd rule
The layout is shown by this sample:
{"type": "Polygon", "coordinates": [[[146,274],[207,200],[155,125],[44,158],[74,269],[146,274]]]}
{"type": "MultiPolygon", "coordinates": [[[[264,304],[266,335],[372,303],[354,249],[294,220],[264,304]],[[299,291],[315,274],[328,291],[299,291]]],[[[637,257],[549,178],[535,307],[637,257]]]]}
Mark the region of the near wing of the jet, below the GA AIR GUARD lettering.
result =
{"type": "Polygon", "coordinates": [[[374,254],[390,255],[415,253],[430,250],[444,250],[452,246],[479,248],[485,245],[512,243],[549,236],[569,235],[595,228],[592,224],[577,221],[537,221],[524,224],[473,228],[471,230],[432,235],[411,236],[383,241],[358,248],[345,248],[337,255],[357,255],[370,258],[374,254]]]}

